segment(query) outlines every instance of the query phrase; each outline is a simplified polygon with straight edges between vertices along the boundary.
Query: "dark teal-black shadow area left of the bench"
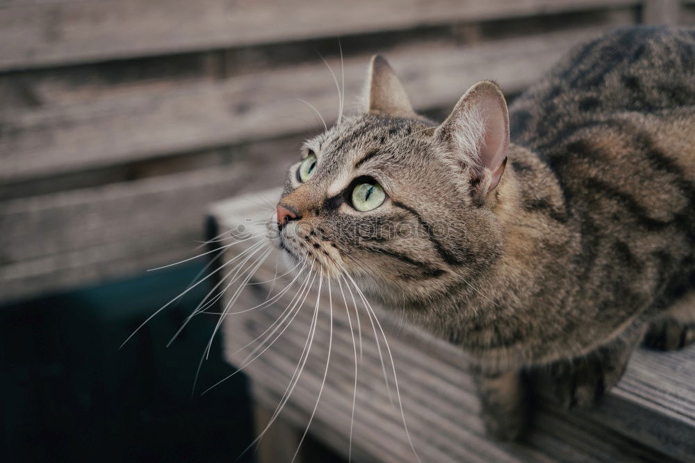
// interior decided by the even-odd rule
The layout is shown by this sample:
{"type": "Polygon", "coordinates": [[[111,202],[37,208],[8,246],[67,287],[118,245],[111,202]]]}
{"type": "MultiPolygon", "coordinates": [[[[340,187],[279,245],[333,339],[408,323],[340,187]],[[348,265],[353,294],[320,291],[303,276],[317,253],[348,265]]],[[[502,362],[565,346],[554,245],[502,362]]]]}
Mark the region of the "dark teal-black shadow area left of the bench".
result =
{"type": "MultiPolygon", "coordinates": [[[[208,285],[167,307],[119,350],[201,269],[159,270],[0,307],[0,460],[234,460],[253,439],[245,377],[200,395],[234,371],[219,339],[191,396],[216,317],[195,317],[166,348],[208,285]]],[[[247,453],[238,461],[252,460],[247,453]]]]}

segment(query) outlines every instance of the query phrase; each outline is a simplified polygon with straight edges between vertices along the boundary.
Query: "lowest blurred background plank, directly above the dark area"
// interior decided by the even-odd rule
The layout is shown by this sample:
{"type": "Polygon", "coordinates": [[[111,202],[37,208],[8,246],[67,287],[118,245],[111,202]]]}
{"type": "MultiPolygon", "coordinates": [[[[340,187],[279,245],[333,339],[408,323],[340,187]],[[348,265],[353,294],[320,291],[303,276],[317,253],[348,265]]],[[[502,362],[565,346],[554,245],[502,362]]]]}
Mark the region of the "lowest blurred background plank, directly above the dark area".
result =
{"type": "Polygon", "coordinates": [[[195,255],[207,204],[279,183],[299,143],[259,143],[232,165],[0,202],[0,300],[195,255]]]}

